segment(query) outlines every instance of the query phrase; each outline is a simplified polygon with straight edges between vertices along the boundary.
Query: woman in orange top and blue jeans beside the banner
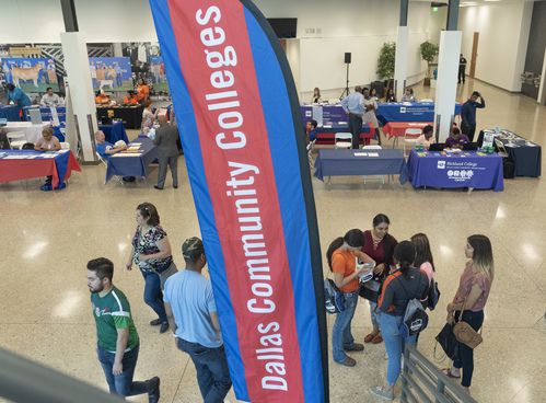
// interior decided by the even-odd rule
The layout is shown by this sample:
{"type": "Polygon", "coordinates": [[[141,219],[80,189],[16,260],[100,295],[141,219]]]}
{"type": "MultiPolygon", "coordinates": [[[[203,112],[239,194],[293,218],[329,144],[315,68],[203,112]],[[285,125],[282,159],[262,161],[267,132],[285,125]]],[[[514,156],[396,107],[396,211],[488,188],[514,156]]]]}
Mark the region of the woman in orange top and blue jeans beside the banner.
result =
{"type": "Polygon", "coordinates": [[[329,269],[334,273],[334,283],[345,295],[345,311],[338,312],[332,329],[332,349],[334,361],[346,367],[355,367],[357,361],[346,352],[362,352],[364,346],[355,343],[351,333],[351,321],[357,309],[360,273],[357,270],[357,260],[373,262],[360,249],[362,247],[362,231],[353,229],[344,238],[335,239],[326,252],[329,269]]]}

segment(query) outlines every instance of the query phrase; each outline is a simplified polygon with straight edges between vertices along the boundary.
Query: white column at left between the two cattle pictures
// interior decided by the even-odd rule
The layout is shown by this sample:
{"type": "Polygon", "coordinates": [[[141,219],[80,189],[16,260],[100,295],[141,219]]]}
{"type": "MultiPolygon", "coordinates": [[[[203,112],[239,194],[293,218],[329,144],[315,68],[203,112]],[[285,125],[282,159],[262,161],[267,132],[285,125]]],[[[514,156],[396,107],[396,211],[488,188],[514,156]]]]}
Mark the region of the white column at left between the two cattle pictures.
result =
{"type": "MultiPolygon", "coordinates": [[[[75,138],[80,139],[83,162],[97,163],[94,134],[97,129],[96,107],[89,69],[88,47],[79,32],[60,34],[65,69],[70,85],[72,115],[75,120],[75,138]]],[[[67,115],[70,111],[67,110],[67,115]]],[[[68,118],[68,117],[67,117],[68,118]]]]}

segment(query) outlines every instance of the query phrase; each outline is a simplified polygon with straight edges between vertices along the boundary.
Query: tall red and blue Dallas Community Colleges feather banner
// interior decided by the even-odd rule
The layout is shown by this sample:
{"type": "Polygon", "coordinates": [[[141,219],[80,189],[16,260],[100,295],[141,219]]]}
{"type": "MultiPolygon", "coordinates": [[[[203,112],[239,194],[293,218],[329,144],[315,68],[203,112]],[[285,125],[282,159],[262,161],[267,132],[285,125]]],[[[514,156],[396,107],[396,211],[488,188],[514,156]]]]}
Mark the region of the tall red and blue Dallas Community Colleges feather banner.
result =
{"type": "Polygon", "coordinates": [[[237,399],[327,402],[304,128],[284,54],[247,0],[150,0],[237,399]]]}

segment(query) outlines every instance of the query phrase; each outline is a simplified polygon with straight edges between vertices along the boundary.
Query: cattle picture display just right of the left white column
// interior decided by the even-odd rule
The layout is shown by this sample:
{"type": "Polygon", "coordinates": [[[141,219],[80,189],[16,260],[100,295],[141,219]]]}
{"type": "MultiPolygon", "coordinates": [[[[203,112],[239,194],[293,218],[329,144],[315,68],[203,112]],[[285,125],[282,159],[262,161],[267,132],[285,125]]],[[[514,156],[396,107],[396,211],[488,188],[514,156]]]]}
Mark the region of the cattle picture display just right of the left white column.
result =
{"type": "Polygon", "coordinates": [[[131,62],[128,57],[90,57],[93,90],[129,91],[133,89],[131,62]]]}

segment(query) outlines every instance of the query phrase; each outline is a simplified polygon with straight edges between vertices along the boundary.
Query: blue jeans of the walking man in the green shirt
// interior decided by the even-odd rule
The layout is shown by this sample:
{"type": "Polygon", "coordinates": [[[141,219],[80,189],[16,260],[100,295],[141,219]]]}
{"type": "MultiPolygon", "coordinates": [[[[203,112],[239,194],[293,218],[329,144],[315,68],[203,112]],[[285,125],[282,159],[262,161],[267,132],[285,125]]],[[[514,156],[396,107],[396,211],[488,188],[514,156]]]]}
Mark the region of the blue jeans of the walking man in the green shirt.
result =
{"type": "Polygon", "coordinates": [[[112,367],[114,366],[114,358],[116,355],[105,350],[98,345],[96,346],[98,361],[103,367],[104,376],[106,377],[106,382],[108,383],[109,392],[112,394],[118,394],[125,398],[149,392],[150,387],[148,382],[132,381],[135,367],[137,367],[138,352],[139,346],[124,354],[124,358],[121,359],[124,371],[121,375],[115,376],[112,373],[112,367]]]}

